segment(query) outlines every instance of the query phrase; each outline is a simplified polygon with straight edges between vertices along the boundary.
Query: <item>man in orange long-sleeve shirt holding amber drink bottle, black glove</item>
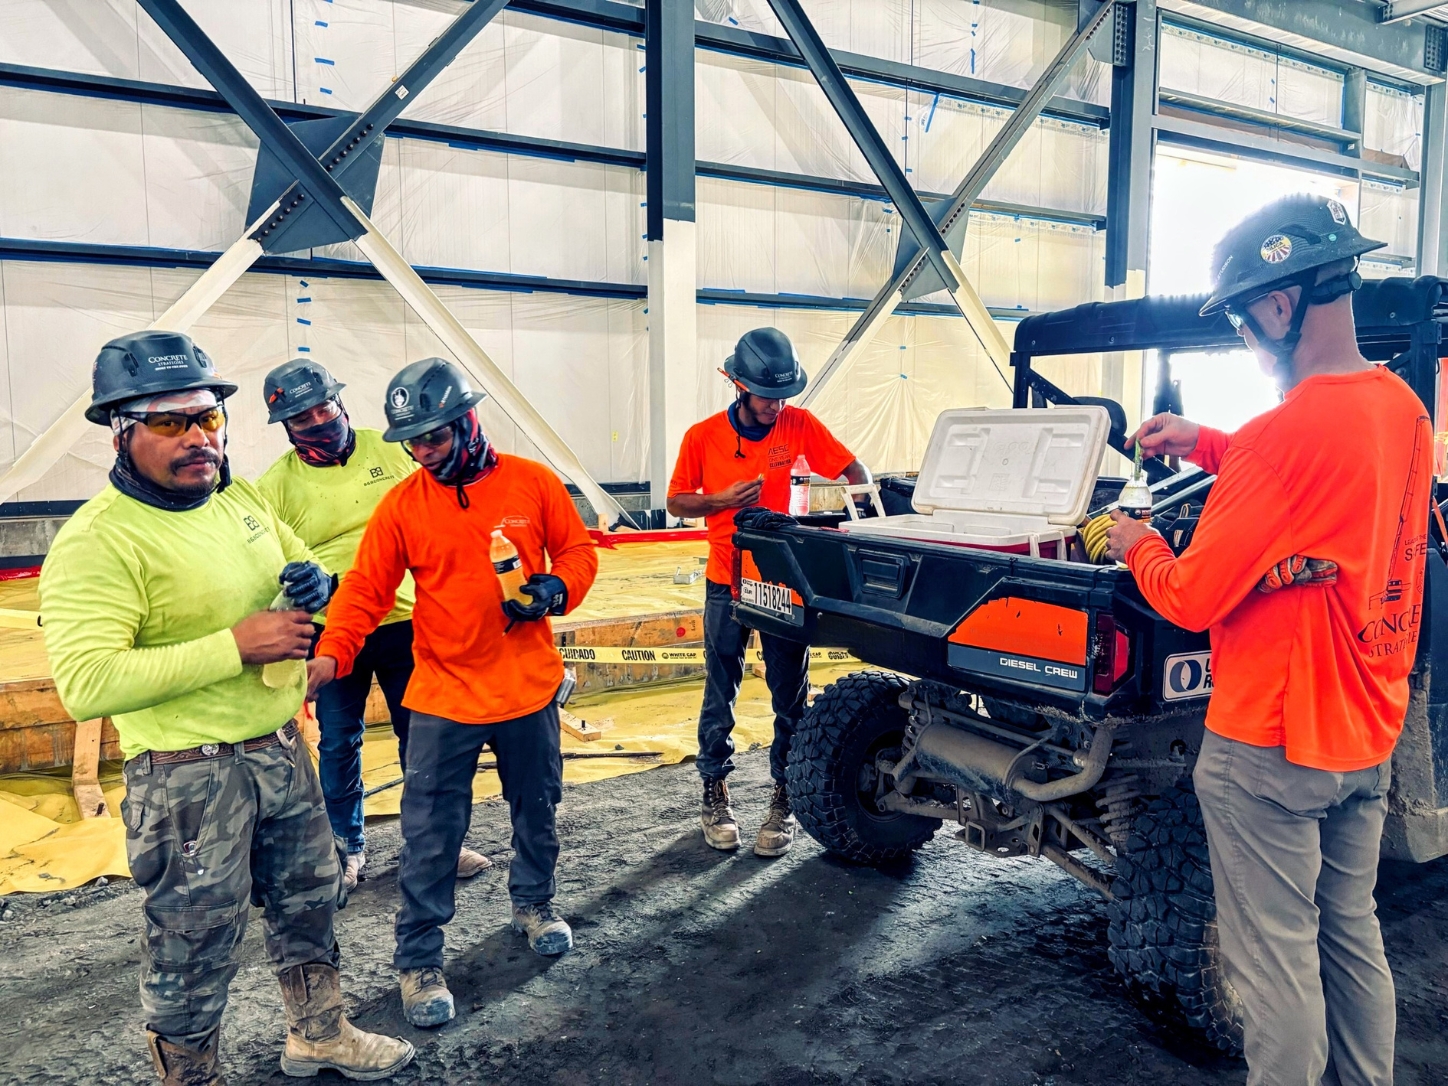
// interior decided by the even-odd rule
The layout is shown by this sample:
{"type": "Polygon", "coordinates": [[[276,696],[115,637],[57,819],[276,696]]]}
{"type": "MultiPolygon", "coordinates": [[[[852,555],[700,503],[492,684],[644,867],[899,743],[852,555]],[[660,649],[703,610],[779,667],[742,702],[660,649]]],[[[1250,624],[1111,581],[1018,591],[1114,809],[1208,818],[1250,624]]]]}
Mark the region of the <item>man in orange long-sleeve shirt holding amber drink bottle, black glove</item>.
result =
{"type": "Polygon", "coordinates": [[[472,817],[472,779],[484,746],[498,759],[513,817],[513,925],[539,954],[573,946],[553,908],[563,657],[547,615],[584,601],[598,556],[553,471],[500,455],[488,443],[476,408],[484,397],[440,358],[414,362],[392,378],[382,437],[401,442],[426,471],[408,475],[378,502],[308,665],[313,692],[346,675],[392,611],[403,575],[413,575],[416,665],[403,696],[413,717],[392,964],[401,973],[403,1012],[418,1027],[442,1025],[455,1014],[443,979],[442,928],[453,917],[458,849],[472,817]],[[508,560],[520,560],[527,575],[523,601],[504,597],[488,560],[495,531],[517,549],[508,560]]]}

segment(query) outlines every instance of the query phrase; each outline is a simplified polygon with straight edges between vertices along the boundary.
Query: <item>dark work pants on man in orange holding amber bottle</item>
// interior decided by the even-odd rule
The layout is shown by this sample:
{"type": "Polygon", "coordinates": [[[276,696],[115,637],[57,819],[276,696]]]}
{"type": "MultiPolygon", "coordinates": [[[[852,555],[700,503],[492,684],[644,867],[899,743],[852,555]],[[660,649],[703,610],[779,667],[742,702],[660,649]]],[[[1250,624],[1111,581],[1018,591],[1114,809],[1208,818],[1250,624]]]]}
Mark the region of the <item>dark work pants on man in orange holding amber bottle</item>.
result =
{"type": "Polygon", "coordinates": [[[458,724],[413,714],[403,783],[403,908],[397,914],[394,966],[443,964],[443,925],[453,918],[458,850],[472,821],[472,779],[484,746],[498,760],[502,798],[513,815],[508,896],[514,905],[553,899],[553,812],[563,798],[557,733],[553,702],[501,724],[458,724]]]}

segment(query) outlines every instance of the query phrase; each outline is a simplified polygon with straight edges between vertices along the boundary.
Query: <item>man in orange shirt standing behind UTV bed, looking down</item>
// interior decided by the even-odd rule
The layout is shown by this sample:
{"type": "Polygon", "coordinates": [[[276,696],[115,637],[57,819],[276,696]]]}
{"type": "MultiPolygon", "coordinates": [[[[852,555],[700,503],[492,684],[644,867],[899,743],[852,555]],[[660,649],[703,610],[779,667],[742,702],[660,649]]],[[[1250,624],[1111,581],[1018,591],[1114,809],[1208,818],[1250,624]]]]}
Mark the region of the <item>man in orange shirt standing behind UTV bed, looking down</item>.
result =
{"type": "MultiPolygon", "coordinates": [[[[728,410],[695,423],[683,434],[669,481],[669,513],[705,517],[710,563],[704,594],[704,705],[699,710],[699,776],[704,778],[704,840],[714,849],[738,849],[738,822],[725,778],[734,769],[734,699],[744,678],[749,630],[734,618],[730,591],[734,565],[734,514],[752,505],[789,508],[791,466],[804,456],[815,475],[870,481],[869,469],[802,407],[785,401],[805,390],[789,337],[776,329],[744,333],[724,362],[737,397],[728,410]]],[[[757,856],[783,856],[798,825],[785,791],[789,741],[809,694],[809,652],[804,644],[763,634],[765,681],[775,710],[769,772],[775,779],[769,812],[754,840],[757,856]]]]}

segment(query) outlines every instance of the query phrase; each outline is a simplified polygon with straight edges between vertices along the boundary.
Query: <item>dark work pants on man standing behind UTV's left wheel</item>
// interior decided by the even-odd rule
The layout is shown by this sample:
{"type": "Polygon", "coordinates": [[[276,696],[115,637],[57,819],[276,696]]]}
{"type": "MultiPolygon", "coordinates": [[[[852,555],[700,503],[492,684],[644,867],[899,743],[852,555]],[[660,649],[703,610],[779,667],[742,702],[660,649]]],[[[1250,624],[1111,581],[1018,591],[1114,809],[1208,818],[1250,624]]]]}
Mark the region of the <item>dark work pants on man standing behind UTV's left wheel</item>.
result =
{"type": "MultiPolygon", "coordinates": [[[[708,582],[704,594],[704,705],[699,708],[699,776],[723,778],[734,770],[734,701],[744,679],[749,627],[734,620],[728,585],[708,582]]],[[[760,634],[765,682],[775,710],[775,741],[769,773],[783,783],[789,743],[809,696],[809,646],[760,634]]]]}

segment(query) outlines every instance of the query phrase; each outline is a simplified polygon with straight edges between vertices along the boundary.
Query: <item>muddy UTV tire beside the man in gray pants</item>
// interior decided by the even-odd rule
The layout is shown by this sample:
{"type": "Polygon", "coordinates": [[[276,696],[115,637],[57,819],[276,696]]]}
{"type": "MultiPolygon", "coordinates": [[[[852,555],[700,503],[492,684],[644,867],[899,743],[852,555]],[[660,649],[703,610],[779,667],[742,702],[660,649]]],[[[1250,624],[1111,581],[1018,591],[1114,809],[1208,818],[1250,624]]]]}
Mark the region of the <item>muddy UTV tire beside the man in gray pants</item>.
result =
{"type": "Polygon", "coordinates": [[[1196,795],[1171,789],[1137,817],[1111,885],[1108,954],[1148,1009],[1242,1051],[1241,1001],[1222,972],[1206,831],[1196,795]]]}

